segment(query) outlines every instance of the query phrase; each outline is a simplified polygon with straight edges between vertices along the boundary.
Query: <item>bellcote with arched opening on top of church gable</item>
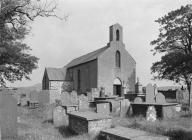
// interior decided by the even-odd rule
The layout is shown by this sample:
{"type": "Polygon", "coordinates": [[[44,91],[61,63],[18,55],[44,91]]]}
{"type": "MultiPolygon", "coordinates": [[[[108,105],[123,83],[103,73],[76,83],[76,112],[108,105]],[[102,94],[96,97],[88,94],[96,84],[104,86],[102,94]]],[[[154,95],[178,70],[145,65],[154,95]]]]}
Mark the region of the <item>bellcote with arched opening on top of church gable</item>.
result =
{"type": "Polygon", "coordinates": [[[112,41],[123,42],[123,28],[118,23],[109,27],[109,42],[112,41]]]}

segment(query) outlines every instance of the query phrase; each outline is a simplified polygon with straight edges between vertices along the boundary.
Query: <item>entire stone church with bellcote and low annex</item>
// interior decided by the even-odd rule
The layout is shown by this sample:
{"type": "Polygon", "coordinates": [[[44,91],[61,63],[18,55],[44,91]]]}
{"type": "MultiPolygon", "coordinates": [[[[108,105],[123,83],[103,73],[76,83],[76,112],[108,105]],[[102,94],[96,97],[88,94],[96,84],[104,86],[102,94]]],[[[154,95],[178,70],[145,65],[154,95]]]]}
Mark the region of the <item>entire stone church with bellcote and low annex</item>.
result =
{"type": "Polygon", "coordinates": [[[80,56],[63,68],[45,68],[42,89],[57,89],[72,84],[78,93],[92,88],[105,88],[106,94],[122,96],[135,92],[136,62],[125,49],[123,28],[109,27],[109,43],[98,50],[80,56]]]}

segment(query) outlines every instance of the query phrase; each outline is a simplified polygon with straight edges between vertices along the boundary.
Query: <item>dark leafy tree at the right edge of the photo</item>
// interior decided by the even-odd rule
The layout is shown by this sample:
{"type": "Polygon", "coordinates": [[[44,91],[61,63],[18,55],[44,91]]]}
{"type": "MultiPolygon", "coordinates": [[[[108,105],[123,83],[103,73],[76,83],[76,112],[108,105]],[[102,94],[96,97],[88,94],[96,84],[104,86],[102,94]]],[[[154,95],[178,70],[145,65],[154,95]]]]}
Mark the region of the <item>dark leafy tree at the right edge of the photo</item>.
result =
{"type": "Polygon", "coordinates": [[[186,5],[156,20],[160,24],[159,35],[151,42],[154,55],[161,60],[151,67],[155,79],[184,82],[189,91],[192,82],[192,6],[186,5]]]}

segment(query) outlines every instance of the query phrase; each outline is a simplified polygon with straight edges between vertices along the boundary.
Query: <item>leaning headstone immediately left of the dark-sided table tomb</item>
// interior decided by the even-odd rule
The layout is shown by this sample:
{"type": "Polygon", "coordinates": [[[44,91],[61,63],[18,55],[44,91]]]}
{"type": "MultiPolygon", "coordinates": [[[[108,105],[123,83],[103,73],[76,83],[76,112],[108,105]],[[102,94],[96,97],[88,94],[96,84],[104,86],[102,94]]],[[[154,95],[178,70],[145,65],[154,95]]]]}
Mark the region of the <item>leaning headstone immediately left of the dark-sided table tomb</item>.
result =
{"type": "Polygon", "coordinates": [[[126,117],[128,115],[129,107],[130,101],[128,99],[120,101],[120,117],[126,117]]]}

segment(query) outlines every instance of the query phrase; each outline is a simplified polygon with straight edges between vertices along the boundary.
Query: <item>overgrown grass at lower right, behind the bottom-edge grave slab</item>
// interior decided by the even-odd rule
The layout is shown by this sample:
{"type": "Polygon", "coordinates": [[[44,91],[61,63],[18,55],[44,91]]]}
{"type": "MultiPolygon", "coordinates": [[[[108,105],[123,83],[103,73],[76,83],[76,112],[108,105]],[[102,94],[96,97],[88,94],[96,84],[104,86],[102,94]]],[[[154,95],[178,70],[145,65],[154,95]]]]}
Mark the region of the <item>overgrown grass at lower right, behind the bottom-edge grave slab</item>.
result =
{"type": "Polygon", "coordinates": [[[192,140],[191,117],[171,120],[157,120],[148,122],[142,116],[134,118],[114,118],[113,125],[144,130],[158,135],[170,137],[171,140],[192,140]],[[184,123],[188,123],[188,126],[184,123]]]}

